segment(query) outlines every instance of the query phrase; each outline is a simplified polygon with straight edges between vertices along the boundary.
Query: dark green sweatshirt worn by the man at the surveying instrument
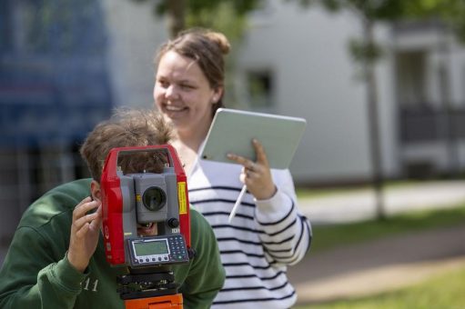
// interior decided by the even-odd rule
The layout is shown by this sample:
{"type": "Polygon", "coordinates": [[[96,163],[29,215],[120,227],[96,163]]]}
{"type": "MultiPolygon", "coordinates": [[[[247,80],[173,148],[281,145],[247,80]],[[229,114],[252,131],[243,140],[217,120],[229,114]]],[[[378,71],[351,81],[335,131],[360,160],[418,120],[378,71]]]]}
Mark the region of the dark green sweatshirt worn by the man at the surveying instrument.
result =
{"type": "MultiPolygon", "coordinates": [[[[85,274],[68,262],[73,209],[90,193],[90,179],[63,184],[32,204],[23,215],[0,270],[0,308],[124,308],[116,276],[126,267],[106,262],[100,237],[85,274]]],[[[223,286],[215,234],[201,214],[191,209],[191,246],[197,255],[175,265],[185,308],[208,308],[223,286]]]]}

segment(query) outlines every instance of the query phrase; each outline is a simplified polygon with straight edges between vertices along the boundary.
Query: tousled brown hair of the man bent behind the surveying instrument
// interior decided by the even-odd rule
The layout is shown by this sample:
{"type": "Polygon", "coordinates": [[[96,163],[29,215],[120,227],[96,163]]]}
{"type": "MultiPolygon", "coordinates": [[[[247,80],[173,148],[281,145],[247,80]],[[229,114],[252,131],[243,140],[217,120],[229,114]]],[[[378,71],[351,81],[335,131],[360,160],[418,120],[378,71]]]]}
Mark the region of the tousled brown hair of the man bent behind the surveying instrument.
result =
{"type": "MultiPolygon", "coordinates": [[[[112,117],[96,125],[86,137],[80,153],[92,178],[100,182],[106,155],[116,147],[164,145],[172,137],[171,127],[154,110],[117,109],[112,117]]],[[[161,173],[167,157],[158,152],[118,156],[124,173],[161,173]]]]}

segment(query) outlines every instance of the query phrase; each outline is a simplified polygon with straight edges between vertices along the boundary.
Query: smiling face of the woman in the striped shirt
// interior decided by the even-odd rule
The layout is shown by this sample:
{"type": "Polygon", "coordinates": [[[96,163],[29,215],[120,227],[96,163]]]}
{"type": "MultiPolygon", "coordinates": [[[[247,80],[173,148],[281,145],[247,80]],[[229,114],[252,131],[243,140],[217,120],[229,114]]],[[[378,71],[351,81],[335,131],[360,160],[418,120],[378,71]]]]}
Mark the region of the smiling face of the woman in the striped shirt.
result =
{"type": "Polygon", "coordinates": [[[168,51],[160,58],[154,99],[178,132],[205,130],[212,119],[212,104],[221,89],[213,89],[195,60],[168,51]]]}

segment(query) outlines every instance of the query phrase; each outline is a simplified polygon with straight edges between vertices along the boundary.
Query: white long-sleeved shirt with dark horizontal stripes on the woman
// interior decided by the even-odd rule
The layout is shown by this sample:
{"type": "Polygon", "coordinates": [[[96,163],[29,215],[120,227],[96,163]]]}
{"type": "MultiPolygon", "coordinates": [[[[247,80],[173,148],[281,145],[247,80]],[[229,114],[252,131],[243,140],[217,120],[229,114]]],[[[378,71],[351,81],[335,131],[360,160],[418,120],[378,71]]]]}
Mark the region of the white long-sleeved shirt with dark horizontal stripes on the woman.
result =
{"type": "Polygon", "coordinates": [[[212,225],[226,282],[212,308],[289,308],[297,294],[286,275],[308,252],[311,228],[299,214],[288,170],[272,170],[278,192],[265,201],[245,194],[231,224],[228,215],[242,187],[241,166],[199,161],[188,176],[189,202],[212,225]]]}

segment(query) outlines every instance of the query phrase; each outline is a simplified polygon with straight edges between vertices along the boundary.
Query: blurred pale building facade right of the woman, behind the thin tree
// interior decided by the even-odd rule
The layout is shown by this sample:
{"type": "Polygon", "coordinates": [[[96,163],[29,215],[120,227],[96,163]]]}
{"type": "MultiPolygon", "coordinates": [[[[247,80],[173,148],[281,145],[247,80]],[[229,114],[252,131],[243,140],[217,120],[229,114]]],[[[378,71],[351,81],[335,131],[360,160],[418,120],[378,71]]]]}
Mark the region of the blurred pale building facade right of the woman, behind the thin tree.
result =
{"type": "MultiPolygon", "coordinates": [[[[241,87],[265,78],[259,109],[307,119],[291,164],[297,183],[372,176],[366,85],[349,55],[361,24],[348,12],[270,1],[240,47],[241,87]]],[[[465,164],[465,49],[439,23],[377,25],[379,146],[386,178],[459,174],[465,164]]],[[[247,92],[246,92],[247,93],[247,92]]],[[[253,104],[253,100],[250,100],[253,104]]]]}

